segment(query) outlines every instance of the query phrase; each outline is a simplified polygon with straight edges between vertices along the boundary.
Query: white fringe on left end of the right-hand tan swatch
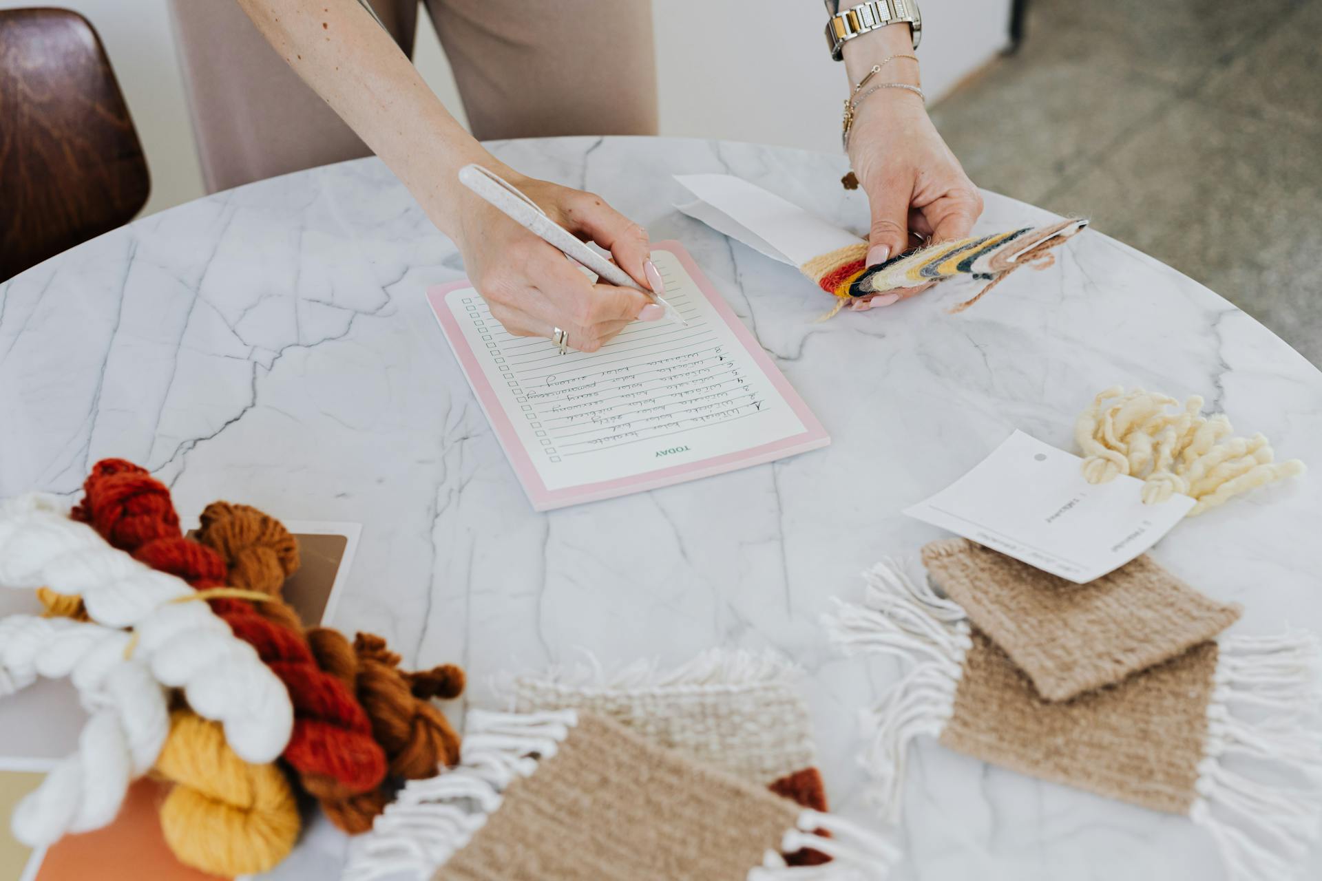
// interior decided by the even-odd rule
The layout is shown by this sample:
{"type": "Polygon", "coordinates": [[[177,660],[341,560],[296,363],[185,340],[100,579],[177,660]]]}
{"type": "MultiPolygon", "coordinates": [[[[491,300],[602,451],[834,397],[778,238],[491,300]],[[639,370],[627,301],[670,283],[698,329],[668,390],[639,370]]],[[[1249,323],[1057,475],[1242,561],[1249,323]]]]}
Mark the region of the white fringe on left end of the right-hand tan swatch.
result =
{"type": "Polygon", "coordinates": [[[867,745],[859,763],[874,778],[869,796],[895,823],[910,742],[941,733],[954,711],[964,654],[973,641],[964,609],[908,579],[896,563],[878,563],[863,577],[863,604],[837,600],[836,614],[822,623],[847,655],[887,654],[912,663],[882,701],[861,715],[867,745]]]}

